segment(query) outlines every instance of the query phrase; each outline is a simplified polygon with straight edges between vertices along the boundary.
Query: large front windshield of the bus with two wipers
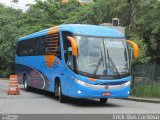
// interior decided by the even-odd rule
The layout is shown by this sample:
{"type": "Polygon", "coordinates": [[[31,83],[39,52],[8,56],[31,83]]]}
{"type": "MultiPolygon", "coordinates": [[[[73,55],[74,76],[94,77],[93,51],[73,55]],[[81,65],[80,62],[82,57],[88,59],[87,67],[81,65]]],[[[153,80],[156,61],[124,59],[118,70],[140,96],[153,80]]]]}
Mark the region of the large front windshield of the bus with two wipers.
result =
{"type": "Polygon", "coordinates": [[[76,71],[95,78],[119,78],[129,74],[126,40],[75,36],[78,45],[76,71]]]}

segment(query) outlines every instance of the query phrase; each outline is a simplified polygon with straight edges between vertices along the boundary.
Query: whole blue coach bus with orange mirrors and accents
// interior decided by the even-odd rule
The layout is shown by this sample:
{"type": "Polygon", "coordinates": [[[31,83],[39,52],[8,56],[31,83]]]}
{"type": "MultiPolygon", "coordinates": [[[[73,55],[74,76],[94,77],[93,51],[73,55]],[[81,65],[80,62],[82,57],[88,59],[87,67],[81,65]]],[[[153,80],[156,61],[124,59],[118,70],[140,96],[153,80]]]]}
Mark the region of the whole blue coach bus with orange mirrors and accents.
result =
{"type": "Polygon", "coordinates": [[[17,40],[16,73],[19,84],[66,97],[108,98],[129,96],[131,74],[124,33],[117,29],[66,24],[45,29],[17,40]]]}

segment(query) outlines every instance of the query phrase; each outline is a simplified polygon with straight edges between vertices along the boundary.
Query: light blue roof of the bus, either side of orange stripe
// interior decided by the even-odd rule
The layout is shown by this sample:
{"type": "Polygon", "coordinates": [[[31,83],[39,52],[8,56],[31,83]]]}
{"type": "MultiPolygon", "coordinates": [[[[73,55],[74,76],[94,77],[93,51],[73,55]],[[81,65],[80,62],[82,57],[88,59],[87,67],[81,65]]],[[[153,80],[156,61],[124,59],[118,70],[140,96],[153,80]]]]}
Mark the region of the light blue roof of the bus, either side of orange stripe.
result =
{"type": "MultiPolygon", "coordinates": [[[[50,28],[49,28],[50,29],[50,28]]],[[[47,35],[49,29],[45,29],[39,32],[32,33],[25,37],[20,38],[18,41],[27,40],[35,37],[47,35]]],[[[97,37],[125,37],[124,33],[118,29],[99,26],[99,25],[87,25],[87,24],[64,24],[58,26],[60,31],[68,31],[78,35],[97,36],[97,37]]]]}

